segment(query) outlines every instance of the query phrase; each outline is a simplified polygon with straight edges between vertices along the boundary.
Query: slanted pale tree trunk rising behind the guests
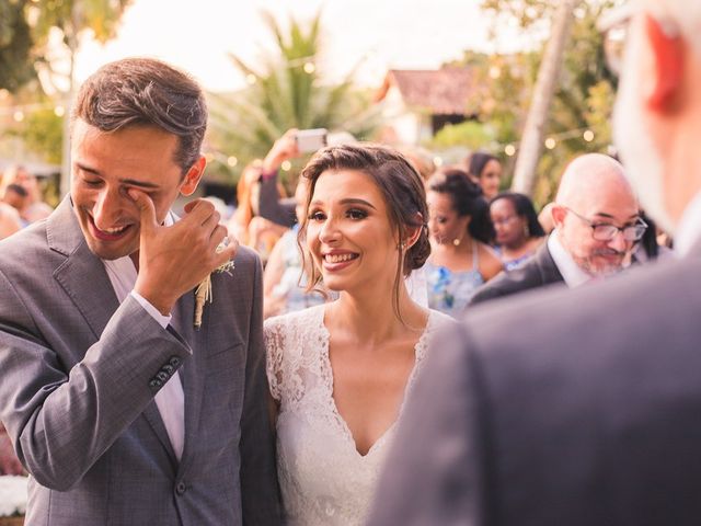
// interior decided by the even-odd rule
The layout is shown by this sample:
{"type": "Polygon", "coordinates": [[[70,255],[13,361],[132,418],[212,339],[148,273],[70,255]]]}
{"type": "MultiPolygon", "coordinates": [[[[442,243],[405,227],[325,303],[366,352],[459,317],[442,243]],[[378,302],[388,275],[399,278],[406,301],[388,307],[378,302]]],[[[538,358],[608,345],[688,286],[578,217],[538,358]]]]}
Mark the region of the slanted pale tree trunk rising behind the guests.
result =
{"type": "Polygon", "coordinates": [[[555,91],[555,83],[562,67],[562,57],[572,26],[574,8],[582,0],[562,0],[553,16],[550,41],[538,70],[533,98],[526,117],[516,159],[512,190],[531,196],[536,186],[536,168],[543,147],[543,130],[548,111],[555,91]]]}

